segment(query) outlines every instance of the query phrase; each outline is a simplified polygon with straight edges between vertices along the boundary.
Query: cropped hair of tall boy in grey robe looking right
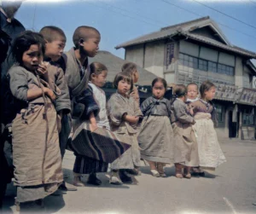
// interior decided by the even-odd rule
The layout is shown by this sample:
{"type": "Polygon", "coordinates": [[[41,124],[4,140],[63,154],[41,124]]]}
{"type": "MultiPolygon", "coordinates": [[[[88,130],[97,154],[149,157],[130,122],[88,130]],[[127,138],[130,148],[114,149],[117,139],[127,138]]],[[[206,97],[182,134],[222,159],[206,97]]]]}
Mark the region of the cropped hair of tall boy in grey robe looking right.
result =
{"type": "Polygon", "coordinates": [[[92,26],[79,26],[73,33],[73,43],[75,47],[79,48],[80,39],[84,39],[84,41],[86,41],[88,38],[94,37],[95,34],[101,36],[101,33],[92,26]]]}

